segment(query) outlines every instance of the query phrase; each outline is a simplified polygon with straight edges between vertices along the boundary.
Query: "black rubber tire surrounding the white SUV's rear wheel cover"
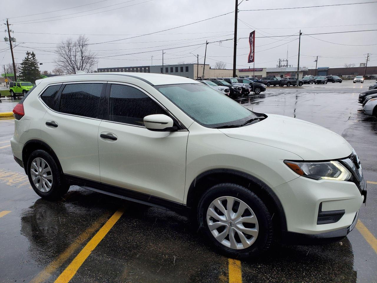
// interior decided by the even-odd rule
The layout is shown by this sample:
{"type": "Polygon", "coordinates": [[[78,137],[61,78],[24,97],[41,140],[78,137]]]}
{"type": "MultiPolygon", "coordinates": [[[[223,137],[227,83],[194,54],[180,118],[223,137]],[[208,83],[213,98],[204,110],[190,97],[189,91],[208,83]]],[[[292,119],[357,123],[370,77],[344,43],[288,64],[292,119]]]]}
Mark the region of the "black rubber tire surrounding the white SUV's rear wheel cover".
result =
{"type": "Polygon", "coordinates": [[[29,182],[34,189],[34,191],[39,195],[41,198],[45,198],[48,200],[57,200],[61,198],[64,194],[67,193],[69,190],[69,185],[67,185],[66,181],[64,180],[64,176],[62,174],[61,169],[57,165],[54,158],[46,151],[42,149],[37,149],[36,151],[33,151],[28,159],[28,165],[27,165],[27,172],[29,177],[29,182]],[[42,158],[46,161],[48,166],[50,166],[51,174],[52,174],[52,186],[51,189],[48,192],[42,192],[40,191],[33,183],[32,177],[31,177],[31,163],[35,158],[42,158]]]}

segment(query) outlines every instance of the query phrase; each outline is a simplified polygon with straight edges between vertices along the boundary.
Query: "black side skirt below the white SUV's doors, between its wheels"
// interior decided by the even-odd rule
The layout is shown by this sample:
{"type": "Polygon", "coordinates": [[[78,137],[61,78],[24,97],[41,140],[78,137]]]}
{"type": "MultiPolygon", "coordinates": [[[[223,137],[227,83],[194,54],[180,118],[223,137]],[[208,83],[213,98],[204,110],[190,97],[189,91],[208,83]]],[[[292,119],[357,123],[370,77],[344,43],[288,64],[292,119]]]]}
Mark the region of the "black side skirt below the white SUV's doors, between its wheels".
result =
{"type": "Polygon", "coordinates": [[[156,208],[169,209],[185,216],[189,215],[190,212],[190,208],[175,201],[166,200],[164,198],[155,197],[153,195],[136,192],[130,189],[112,186],[85,178],[72,176],[69,174],[64,174],[64,177],[71,186],[76,185],[90,191],[100,192],[102,194],[111,195],[123,200],[142,203],[144,205],[149,205],[156,208]]]}

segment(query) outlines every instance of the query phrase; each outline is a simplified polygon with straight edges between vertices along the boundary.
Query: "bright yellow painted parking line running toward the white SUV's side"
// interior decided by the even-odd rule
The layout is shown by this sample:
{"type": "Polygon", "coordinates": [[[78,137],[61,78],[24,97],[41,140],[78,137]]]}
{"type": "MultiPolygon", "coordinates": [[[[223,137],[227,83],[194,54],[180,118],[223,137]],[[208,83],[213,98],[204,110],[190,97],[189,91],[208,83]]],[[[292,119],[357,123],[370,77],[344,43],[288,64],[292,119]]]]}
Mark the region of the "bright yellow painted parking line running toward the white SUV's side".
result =
{"type": "Polygon", "coordinates": [[[112,217],[102,226],[102,228],[90,239],[90,241],[84,246],[81,252],[72,260],[66,269],[55,280],[55,283],[67,283],[74,277],[80,266],[84,263],[90,253],[100,243],[100,241],[106,236],[110,229],[114,226],[116,221],[122,216],[124,209],[118,209],[112,217]]]}

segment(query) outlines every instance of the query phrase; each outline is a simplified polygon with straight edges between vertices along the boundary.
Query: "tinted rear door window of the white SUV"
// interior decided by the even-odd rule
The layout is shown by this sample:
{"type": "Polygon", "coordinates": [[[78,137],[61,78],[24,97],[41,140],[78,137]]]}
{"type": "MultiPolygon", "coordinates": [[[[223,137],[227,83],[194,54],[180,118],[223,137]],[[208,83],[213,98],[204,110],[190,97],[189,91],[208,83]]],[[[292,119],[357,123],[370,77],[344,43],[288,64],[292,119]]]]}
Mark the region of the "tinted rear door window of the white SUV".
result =
{"type": "Polygon", "coordinates": [[[66,85],[61,93],[59,111],[97,118],[101,90],[101,83],[75,83],[66,85]]]}

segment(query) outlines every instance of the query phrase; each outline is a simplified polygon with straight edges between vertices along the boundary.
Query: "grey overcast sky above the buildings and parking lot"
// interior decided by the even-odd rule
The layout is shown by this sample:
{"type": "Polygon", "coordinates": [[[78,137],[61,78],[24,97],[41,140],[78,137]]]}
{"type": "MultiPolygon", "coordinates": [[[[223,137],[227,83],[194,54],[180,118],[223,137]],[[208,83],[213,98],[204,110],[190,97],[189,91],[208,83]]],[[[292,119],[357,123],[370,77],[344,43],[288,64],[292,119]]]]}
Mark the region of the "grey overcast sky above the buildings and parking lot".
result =
{"type": "MultiPolygon", "coordinates": [[[[248,68],[249,65],[253,67],[247,63],[247,37],[254,28],[257,37],[256,68],[276,67],[279,58],[287,58],[287,51],[288,64],[297,66],[299,41],[294,40],[297,36],[265,36],[298,34],[299,29],[303,34],[377,29],[377,3],[277,11],[242,11],[355,2],[317,0],[290,2],[288,5],[288,2],[271,0],[268,3],[270,4],[266,5],[265,1],[249,0],[239,5],[237,68],[248,68]]],[[[83,34],[87,35],[90,43],[108,42],[170,29],[232,11],[233,0],[14,0],[12,5],[2,5],[0,19],[8,17],[9,23],[14,23],[11,26],[11,30],[14,31],[11,36],[15,37],[17,45],[19,44],[14,48],[15,61],[21,63],[26,51],[34,51],[39,62],[43,63],[40,66],[41,71],[51,71],[54,68],[54,46],[67,37],[77,38],[79,34],[83,34]],[[72,8],[79,5],[85,6],[72,8]],[[64,10],[56,11],[61,9],[64,10]]],[[[6,26],[3,26],[3,35],[8,37],[5,29],[6,26]]],[[[199,63],[203,63],[206,39],[209,42],[232,39],[233,34],[234,13],[231,13],[159,34],[120,40],[111,44],[90,45],[90,49],[98,54],[98,68],[104,68],[151,65],[152,55],[153,65],[161,65],[162,51],[158,51],[159,49],[201,44],[164,51],[164,64],[182,61],[196,63],[196,56],[190,52],[199,54],[199,63]],[[145,53],[123,55],[138,52],[145,53]],[[113,57],[100,58],[106,56],[113,57]]],[[[365,62],[368,52],[372,53],[368,65],[377,65],[377,31],[312,36],[319,40],[307,35],[301,37],[300,66],[314,68],[316,63],[313,61],[316,55],[320,56],[318,66],[342,67],[345,63],[359,66],[359,63],[365,62]]],[[[9,44],[5,43],[2,37],[0,65],[12,62],[10,50],[2,50],[7,47],[9,44]]],[[[214,66],[216,61],[226,62],[227,69],[232,68],[233,40],[208,44],[205,63],[214,66]]]]}

